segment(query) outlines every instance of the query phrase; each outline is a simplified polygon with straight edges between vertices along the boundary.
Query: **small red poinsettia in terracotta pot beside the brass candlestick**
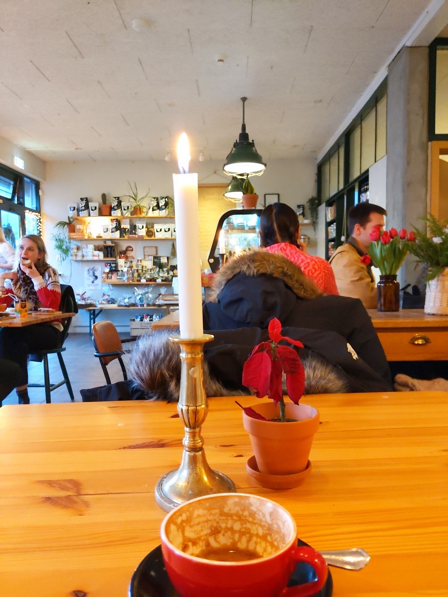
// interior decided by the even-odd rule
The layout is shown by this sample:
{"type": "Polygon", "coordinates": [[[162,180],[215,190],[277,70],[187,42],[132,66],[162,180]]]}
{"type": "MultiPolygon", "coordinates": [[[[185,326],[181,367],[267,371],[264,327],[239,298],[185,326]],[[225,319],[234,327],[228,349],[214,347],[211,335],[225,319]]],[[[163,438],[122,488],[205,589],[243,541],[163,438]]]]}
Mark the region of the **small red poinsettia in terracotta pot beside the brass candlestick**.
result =
{"type": "MultiPolygon", "coordinates": [[[[300,475],[308,469],[309,452],[314,434],[319,427],[319,413],[315,408],[300,404],[305,390],[305,371],[296,350],[280,344],[287,341],[297,347],[303,344],[281,334],[278,319],[268,327],[269,340],[254,347],[244,364],[243,385],[257,398],[266,395],[271,402],[243,408],[243,425],[249,433],[257,470],[275,478],[293,478],[292,484],[268,487],[294,487],[300,475]],[[283,398],[283,374],[291,402],[283,398]]],[[[250,459],[249,459],[250,461],[250,459]]],[[[249,462],[248,462],[249,466],[249,462]]],[[[263,479],[257,479],[263,484],[263,479]]],[[[280,481],[280,479],[279,479],[280,481]]]]}

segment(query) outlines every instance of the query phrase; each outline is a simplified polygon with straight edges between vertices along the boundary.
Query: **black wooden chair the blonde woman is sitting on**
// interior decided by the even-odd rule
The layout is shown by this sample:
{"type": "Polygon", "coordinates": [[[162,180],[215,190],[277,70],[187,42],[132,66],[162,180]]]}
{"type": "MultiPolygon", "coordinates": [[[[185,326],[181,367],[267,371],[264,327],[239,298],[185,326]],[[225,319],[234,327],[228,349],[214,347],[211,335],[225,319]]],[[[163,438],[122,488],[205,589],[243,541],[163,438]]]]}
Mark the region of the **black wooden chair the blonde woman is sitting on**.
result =
{"type": "MultiPolygon", "coordinates": [[[[63,313],[78,313],[78,305],[76,304],[75,293],[73,293],[73,288],[67,284],[61,284],[61,302],[59,308],[63,313]]],[[[38,350],[32,355],[29,355],[30,361],[44,362],[44,383],[30,383],[28,384],[28,387],[45,387],[45,402],[47,402],[47,404],[50,404],[51,402],[51,392],[53,392],[53,390],[56,390],[57,387],[63,386],[64,384],[66,384],[67,386],[67,392],[69,393],[70,400],[72,402],[75,401],[75,396],[73,396],[72,385],[70,384],[69,376],[65,367],[65,362],[62,358],[62,353],[65,352],[65,347],[63,346],[63,344],[67,339],[71,324],[71,317],[67,317],[65,319],[62,317],[62,340],[61,345],[59,347],[48,350],[38,350]],[[59,360],[61,371],[64,376],[63,380],[59,381],[59,383],[50,383],[48,355],[57,355],[57,358],[59,360]]]]}

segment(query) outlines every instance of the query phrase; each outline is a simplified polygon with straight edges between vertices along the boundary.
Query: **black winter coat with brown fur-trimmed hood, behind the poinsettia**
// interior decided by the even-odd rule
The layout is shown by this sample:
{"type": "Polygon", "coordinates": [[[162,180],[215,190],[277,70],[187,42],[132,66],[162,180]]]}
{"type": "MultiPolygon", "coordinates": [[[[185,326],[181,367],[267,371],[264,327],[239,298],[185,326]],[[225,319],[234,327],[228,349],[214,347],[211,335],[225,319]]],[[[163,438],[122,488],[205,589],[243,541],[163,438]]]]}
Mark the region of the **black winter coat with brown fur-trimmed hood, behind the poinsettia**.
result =
{"type": "MultiPolygon", "coordinates": [[[[335,333],[345,340],[347,352],[348,343],[385,381],[381,390],[369,386],[365,392],[392,389],[386,356],[363,303],[358,298],[323,296],[300,267],[282,255],[257,250],[229,261],[218,272],[212,300],[204,304],[203,313],[205,330],[266,329],[277,317],[283,327],[333,333],[316,336],[323,344],[335,341],[335,333]]],[[[363,376],[361,370],[359,375],[363,376]]]]}

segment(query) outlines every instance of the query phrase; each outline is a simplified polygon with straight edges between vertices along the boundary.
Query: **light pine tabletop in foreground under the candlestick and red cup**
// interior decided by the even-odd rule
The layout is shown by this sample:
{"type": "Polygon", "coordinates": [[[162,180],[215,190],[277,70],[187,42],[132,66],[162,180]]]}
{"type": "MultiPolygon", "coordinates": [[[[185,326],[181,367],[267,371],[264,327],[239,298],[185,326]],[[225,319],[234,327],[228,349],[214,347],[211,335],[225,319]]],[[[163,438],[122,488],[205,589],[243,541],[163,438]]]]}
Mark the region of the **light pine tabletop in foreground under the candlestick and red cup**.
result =
{"type": "MultiPolygon", "coordinates": [[[[332,568],[335,597],[446,597],[448,393],[306,402],[321,426],[301,487],[266,490],[247,475],[251,448],[233,398],[209,401],[202,435],[211,466],[238,491],[285,506],[315,548],[370,553],[359,572],[332,568]]],[[[179,466],[182,436],[174,404],[1,408],[1,595],[125,597],[134,568],[160,542],[165,513],[154,487],[179,466]]]]}

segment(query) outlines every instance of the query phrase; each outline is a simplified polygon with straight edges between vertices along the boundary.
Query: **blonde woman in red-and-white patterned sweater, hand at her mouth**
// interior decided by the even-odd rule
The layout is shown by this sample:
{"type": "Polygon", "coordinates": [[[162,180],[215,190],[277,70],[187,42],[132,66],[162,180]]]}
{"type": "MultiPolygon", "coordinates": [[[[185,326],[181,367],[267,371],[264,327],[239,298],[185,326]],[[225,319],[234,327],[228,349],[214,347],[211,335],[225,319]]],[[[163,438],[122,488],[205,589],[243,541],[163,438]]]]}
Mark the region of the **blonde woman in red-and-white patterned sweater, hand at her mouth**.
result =
{"type": "MultiPolygon", "coordinates": [[[[59,275],[47,263],[47,249],[40,236],[22,236],[16,255],[16,269],[0,273],[0,294],[13,292],[35,307],[59,310],[61,287],[59,275]],[[5,287],[2,287],[2,282],[5,287]]],[[[60,320],[27,325],[23,328],[1,328],[0,359],[16,362],[22,370],[16,387],[19,404],[29,404],[27,356],[36,350],[57,348],[62,341],[60,320]]]]}

